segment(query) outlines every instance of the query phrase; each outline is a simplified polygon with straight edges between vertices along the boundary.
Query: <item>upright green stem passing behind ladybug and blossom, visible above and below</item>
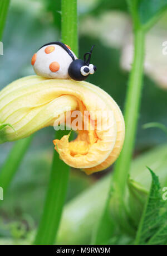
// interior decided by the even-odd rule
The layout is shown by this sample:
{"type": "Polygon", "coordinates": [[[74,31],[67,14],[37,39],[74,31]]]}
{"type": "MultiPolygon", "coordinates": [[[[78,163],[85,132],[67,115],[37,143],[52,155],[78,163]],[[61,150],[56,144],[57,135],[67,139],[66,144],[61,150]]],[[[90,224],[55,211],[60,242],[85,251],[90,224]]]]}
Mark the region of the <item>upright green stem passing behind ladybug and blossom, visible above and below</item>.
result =
{"type": "MultiPolygon", "coordinates": [[[[62,41],[78,54],[77,1],[62,0],[62,41]]],[[[57,131],[61,139],[63,131],[57,131]]],[[[70,167],[54,153],[45,206],[34,244],[54,244],[65,203],[70,167]]]]}

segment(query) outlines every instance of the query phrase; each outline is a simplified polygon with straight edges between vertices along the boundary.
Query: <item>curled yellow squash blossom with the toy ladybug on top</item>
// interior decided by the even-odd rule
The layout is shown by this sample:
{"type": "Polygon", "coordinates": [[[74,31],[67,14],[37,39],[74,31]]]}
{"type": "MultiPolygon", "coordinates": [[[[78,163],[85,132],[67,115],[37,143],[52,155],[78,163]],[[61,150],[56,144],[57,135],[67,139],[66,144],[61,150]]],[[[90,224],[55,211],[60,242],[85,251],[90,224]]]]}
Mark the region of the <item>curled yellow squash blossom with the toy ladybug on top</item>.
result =
{"type": "MultiPolygon", "coordinates": [[[[83,81],[47,79],[33,75],[18,79],[2,89],[0,143],[25,138],[43,127],[53,126],[55,121],[58,124],[69,110],[71,116],[76,110],[93,113],[95,126],[92,129],[89,117],[87,129],[78,129],[75,140],[69,143],[69,135],[54,140],[60,158],[71,167],[83,169],[87,174],[109,167],[122,149],[124,118],[109,94],[83,81]],[[103,120],[107,124],[104,129],[97,129],[100,112],[107,113],[103,120]]],[[[85,125],[84,119],[82,122],[85,125]]]]}

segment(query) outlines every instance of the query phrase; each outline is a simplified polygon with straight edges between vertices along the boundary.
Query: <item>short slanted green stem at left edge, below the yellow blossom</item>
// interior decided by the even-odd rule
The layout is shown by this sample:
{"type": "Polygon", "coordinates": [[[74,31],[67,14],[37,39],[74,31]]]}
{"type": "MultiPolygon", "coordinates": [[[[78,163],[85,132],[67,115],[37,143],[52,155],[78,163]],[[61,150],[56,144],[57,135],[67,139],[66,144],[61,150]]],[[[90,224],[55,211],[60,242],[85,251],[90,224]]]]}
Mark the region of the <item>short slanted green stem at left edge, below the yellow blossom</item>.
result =
{"type": "Polygon", "coordinates": [[[32,136],[26,139],[19,140],[14,144],[11,152],[8,155],[6,162],[4,163],[0,172],[0,187],[3,188],[3,193],[5,195],[9,184],[12,181],[14,174],[16,173],[21,160],[24,157],[30,143],[32,136]]]}

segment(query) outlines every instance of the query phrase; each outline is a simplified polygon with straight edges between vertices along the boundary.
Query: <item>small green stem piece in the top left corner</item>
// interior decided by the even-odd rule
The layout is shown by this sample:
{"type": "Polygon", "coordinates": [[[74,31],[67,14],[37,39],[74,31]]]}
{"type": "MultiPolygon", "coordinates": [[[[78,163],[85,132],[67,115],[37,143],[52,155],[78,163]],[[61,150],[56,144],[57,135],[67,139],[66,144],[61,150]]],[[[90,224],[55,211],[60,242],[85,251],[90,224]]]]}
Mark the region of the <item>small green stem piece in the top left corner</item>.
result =
{"type": "Polygon", "coordinates": [[[2,39],[4,25],[8,13],[10,0],[0,0],[0,40],[2,39]]]}

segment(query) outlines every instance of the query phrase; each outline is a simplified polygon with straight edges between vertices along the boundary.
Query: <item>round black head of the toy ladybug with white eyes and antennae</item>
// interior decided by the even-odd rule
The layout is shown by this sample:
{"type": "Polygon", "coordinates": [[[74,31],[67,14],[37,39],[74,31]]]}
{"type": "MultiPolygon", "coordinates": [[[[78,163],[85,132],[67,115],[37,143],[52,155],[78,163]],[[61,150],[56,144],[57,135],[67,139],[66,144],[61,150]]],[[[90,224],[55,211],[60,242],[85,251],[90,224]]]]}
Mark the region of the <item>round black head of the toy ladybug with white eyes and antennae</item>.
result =
{"type": "Polygon", "coordinates": [[[88,53],[84,54],[84,60],[76,59],[73,60],[68,68],[68,74],[73,80],[82,81],[85,80],[89,74],[94,74],[97,70],[96,66],[90,64],[92,50],[95,45],[92,46],[88,53]],[[86,59],[86,56],[88,58],[86,59]]]}

